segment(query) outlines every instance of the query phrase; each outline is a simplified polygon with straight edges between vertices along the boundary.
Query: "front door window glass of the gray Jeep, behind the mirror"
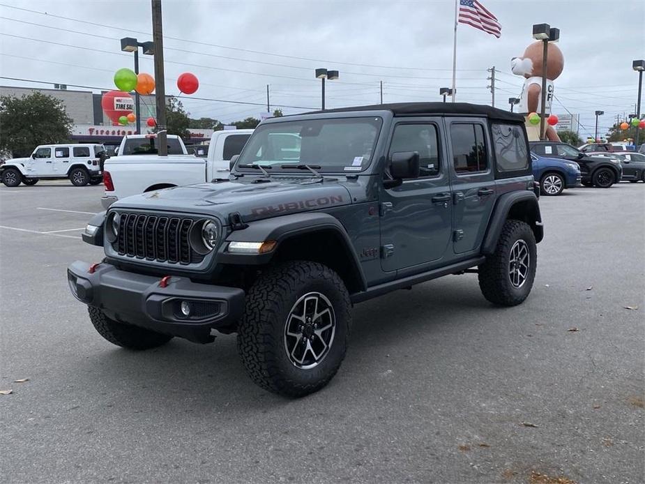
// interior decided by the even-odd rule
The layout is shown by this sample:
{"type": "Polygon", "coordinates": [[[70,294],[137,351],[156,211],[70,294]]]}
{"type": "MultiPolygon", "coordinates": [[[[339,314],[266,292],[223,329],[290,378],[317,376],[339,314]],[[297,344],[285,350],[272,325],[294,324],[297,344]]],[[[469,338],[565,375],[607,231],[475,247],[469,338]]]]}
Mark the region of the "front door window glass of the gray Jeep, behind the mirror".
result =
{"type": "Polygon", "coordinates": [[[388,158],[393,153],[419,153],[419,177],[439,175],[439,142],[434,124],[398,124],[394,129],[388,158]]]}

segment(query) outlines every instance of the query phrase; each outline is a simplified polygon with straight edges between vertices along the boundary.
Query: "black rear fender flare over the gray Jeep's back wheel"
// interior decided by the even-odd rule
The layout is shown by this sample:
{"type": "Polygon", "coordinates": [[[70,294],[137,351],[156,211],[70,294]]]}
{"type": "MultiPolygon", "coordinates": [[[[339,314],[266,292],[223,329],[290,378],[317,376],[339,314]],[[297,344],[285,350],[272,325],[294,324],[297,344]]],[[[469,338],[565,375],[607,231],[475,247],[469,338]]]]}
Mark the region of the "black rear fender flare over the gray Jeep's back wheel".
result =
{"type": "Polygon", "coordinates": [[[536,236],[536,242],[542,241],[544,238],[544,227],[542,227],[542,215],[540,215],[540,205],[538,204],[536,194],[528,190],[508,192],[501,195],[494,206],[493,214],[482,243],[481,252],[483,255],[492,255],[495,252],[504,222],[508,219],[508,215],[513,209],[513,206],[517,204],[528,204],[530,210],[524,211],[526,213],[524,221],[533,230],[533,234],[536,236]]]}

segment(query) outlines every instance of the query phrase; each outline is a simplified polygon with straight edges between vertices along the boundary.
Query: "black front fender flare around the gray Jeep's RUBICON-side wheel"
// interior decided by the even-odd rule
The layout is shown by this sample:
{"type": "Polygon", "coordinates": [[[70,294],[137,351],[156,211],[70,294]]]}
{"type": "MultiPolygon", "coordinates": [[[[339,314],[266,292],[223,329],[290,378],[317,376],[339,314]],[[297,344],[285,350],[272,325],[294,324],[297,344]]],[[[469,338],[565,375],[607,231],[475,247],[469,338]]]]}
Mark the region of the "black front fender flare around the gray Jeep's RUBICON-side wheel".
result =
{"type": "Polygon", "coordinates": [[[314,232],[331,231],[342,241],[342,250],[352,265],[352,271],[358,275],[358,282],[361,290],[367,288],[365,274],[358,260],[358,255],[354,250],[347,230],[343,227],[337,218],[329,213],[324,212],[305,212],[293,213],[291,215],[281,215],[274,218],[265,218],[256,222],[249,222],[245,229],[234,230],[227,236],[226,242],[263,242],[277,241],[276,248],[267,254],[232,254],[225,252],[227,243],[222,243],[218,262],[222,264],[243,264],[243,265],[261,265],[268,264],[273,259],[280,245],[295,236],[303,234],[312,234],[314,232]]]}

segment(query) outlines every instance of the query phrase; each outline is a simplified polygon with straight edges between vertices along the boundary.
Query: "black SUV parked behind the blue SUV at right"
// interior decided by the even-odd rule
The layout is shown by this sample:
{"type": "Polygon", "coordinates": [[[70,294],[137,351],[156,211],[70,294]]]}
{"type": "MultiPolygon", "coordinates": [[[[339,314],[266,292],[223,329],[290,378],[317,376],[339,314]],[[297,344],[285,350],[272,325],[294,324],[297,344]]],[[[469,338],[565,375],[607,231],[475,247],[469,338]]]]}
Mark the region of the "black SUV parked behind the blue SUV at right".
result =
{"type": "Polygon", "coordinates": [[[607,156],[590,156],[574,148],[568,143],[552,141],[532,141],[531,151],[548,158],[564,158],[577,162],[582,174],[584,186],[609,188],[614,183],[621,181],[623,167],[618,160],[607,156]]]}

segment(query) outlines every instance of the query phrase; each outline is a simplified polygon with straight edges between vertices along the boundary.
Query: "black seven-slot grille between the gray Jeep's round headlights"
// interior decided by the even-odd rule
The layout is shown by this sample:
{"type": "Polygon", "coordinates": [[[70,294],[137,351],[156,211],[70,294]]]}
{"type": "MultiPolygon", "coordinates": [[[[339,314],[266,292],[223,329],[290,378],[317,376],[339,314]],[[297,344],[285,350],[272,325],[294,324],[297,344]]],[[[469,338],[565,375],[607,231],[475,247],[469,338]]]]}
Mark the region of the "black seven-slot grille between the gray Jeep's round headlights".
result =
{"type": "Polygon", "coordinates": [[[192,218],[121,213],[114,248],[119,255],[158,262],[199,262],[203,257],[190,248],[188,241],[193,224],[192,218]]]}

